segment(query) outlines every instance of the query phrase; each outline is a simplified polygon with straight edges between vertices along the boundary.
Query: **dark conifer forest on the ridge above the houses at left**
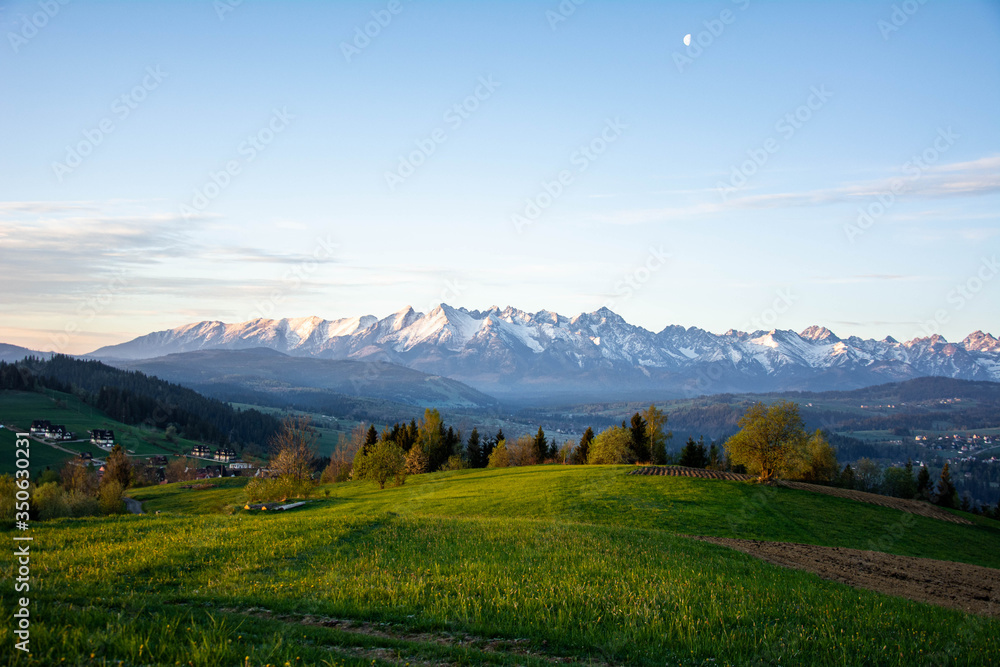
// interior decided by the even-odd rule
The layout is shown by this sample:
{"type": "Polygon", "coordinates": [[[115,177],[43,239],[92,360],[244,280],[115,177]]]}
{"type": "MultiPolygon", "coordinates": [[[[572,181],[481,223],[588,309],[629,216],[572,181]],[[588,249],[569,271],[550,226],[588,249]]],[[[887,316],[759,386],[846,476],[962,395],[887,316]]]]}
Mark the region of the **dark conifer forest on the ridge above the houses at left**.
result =
{"type": "Polygon", "coordinates": [[[0,389],[41,388],[74,394],[124,424],[173,426],[184,438],[215,445],[263,447],[281,428],[277,419],[257,410],[235,410],[191,389],[99,361],[56,355],[48,361],[0,362],[0,389]]]}

